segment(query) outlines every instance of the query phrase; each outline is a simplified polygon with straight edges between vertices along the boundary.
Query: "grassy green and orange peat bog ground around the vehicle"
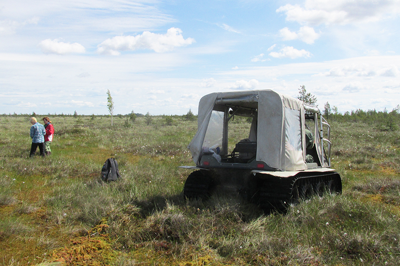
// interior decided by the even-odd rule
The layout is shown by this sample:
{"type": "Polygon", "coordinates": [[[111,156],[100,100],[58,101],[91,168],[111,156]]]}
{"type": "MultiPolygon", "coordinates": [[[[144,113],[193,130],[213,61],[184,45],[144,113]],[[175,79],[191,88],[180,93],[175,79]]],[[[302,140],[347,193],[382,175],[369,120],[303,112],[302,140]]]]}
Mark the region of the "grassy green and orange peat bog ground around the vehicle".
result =
{"type": "Polygon", "coordinates": [[[398,125],[329,121],[342,195],[266,215],[236,195],[185,201],[196,121],[50,118],[52,155],[29,159],[29,117],[0,116],[1,266],[399,264],[398,125]],[[122,178],[104,183],[110,157],[122,178]]]}

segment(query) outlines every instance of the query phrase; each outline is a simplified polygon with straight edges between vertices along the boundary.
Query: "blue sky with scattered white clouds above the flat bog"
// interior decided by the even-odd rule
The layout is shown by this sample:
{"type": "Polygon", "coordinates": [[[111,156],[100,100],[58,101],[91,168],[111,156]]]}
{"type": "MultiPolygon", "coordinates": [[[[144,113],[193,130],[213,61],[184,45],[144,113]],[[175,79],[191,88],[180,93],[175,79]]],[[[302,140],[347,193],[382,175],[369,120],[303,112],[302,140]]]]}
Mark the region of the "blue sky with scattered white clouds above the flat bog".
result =
{"type": "Polygon", "coordinates": [[[197,114],[304,85],[340,113],[400,104],[400,0],[0,0],[0,114],[197,114]]]}

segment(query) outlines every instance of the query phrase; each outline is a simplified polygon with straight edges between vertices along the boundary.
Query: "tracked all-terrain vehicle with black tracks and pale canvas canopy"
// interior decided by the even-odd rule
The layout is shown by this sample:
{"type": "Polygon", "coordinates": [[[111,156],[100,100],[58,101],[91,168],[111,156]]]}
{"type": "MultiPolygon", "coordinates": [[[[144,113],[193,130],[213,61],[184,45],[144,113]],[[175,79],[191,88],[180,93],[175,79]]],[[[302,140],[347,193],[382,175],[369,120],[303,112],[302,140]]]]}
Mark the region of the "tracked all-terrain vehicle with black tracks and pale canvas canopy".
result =
{"type": "Polygon", "coordinates": [[[206,198],[223,189],[264,210],[284,210],[313,194],[340,193],[329,136],[317,107],[272,90],[208,94],[200,100],[197,133],[188,146],[196,166],[181,166],[196,169],[184,196],[206,198]]]}

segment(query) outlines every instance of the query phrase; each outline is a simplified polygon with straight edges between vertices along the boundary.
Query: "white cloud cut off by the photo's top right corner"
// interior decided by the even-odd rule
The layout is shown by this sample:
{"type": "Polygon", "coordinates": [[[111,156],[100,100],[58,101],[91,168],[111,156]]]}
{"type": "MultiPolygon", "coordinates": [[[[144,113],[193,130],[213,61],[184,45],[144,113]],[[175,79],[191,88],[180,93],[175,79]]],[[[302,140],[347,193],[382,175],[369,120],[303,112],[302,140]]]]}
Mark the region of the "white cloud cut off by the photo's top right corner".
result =
{"type": "Polygon", "coordinates": [[[306,0],[304,7],[287,4],[276,10],[300,24],[349,24],[378,21],[399,14],[398,0],[306,0]]]}

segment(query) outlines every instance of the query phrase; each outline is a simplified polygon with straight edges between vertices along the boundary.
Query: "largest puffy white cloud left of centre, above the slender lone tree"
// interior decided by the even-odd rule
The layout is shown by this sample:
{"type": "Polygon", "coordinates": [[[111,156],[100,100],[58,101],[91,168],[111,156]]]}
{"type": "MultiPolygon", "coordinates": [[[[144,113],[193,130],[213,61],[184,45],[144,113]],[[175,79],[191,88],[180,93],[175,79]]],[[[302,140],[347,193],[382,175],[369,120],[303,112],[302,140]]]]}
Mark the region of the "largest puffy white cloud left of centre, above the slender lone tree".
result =
{"type": "Polygon", "coordinates": [[[144,31],[136,36],[115,36],[97,45],[100,54],[119,55],[120,51],[134,51],[138,49],[150,49],[157,53],[172,51],[175,47],[194,43],[193,38],[186,40],[182,36],[182,30],[171,28],[166,34],[157,34],[144,31]]]}

